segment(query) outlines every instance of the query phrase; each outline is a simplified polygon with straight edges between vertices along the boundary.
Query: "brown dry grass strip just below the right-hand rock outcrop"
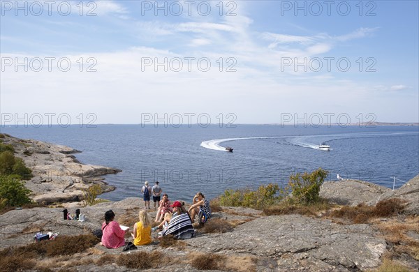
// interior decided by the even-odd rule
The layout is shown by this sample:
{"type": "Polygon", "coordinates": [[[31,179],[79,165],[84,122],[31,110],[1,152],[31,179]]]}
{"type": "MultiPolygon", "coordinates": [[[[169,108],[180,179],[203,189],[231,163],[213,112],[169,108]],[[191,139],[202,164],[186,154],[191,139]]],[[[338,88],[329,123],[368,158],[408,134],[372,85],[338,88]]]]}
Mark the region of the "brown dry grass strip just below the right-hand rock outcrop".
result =
{"type": "Polygon", "coordinates": [[[343,206],[332,211],[331,217],[351,220],[355,224],[369,222],[372,218],[395,216],[404,211],[404,202],[398,198],[381,200],[376,206],[358,204],[358,206],[343,206]]]}

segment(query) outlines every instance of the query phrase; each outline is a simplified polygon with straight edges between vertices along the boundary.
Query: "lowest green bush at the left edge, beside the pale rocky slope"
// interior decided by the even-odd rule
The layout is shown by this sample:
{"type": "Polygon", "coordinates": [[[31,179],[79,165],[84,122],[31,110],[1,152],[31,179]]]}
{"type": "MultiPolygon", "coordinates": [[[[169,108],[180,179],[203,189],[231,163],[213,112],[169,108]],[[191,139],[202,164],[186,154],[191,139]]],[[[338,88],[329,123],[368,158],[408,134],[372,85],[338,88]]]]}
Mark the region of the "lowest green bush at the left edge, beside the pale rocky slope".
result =
{"type": "Polygon", "coordinates": [[[5,206],[22,206],[31,203],[31,190],[24,187],[20,176],[0,176],[0,199],[5,206]]]}

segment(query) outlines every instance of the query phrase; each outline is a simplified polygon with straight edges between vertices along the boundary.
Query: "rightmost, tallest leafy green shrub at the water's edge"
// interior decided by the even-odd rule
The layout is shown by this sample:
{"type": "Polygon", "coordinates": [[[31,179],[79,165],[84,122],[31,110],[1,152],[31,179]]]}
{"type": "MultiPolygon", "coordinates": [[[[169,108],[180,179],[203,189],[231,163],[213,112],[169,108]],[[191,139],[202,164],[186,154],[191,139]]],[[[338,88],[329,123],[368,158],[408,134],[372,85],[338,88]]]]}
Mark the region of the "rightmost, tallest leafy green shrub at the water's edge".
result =
{"type": "Polygon", "coordinates": [[[320,192],[320,187],[327,176],[328,171],[321,168],[311,173],[304,172],[304,174],[291,175],[288,186],[293,198],[301,204],[319,202],[318,192],[320,192]]]}

